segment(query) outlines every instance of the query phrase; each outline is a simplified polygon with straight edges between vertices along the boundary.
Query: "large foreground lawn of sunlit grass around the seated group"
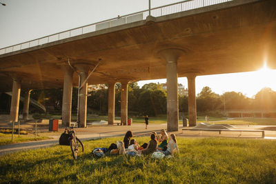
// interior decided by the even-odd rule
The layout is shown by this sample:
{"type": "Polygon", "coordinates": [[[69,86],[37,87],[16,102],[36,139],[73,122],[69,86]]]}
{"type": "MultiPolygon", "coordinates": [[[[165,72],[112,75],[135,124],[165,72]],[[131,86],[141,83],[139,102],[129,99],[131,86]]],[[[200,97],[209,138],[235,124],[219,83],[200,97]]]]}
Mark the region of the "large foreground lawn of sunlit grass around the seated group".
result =
{"type": "MultiPolygon", "coordinates": [[[[181,152],[171,159],[106,156],[92,148],[120,138],[84,142],[77,161],[69,146],[17,152],[0,157],[0,183],[275,183],[276,141],[178,138],[181,152]]],[[[138,143],[148,137],[137,137],[138,143]]]]}

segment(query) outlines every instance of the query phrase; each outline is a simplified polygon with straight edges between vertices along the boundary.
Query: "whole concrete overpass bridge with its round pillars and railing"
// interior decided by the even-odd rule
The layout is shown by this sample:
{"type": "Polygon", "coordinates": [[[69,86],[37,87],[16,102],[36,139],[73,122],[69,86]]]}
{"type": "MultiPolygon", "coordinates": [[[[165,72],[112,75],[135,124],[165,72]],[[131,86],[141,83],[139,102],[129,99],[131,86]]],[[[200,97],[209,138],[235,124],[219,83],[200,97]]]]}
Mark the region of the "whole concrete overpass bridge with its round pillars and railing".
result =
{"type": "Polygon", "coordinates": [[[69,125],[72,85],[80,79],[81,127],[87,86],[99,83],[108,83],[110,124],[115,83],[121,83],[126,124],[128,82],[166,78],[168,130],[178,130],[177,77],[186,76],[189,121],[196,125],[196,76],[255,71],[264,61],[276,69],[276,1],[212,2],[182,1],[152,9],[151,16],[147,10],[1,49],[0,90],[12,89],[11,121],[17,121],[21,88],[63,87],[63,125],[69,125]]]}

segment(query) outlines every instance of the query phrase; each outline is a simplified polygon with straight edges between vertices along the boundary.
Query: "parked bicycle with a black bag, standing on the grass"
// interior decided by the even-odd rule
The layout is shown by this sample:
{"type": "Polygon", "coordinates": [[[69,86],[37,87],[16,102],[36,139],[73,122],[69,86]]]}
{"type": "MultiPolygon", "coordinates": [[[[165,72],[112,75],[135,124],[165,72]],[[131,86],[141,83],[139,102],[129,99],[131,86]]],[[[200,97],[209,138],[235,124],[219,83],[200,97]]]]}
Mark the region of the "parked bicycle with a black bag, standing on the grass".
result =
{"type": "Polygon", "coordinates": [[[61,134],[59,138],[60,145],[70,145],[72,156],[77,159],[77,153],[79,150],[83,152],[83,143],[76,136],[74,127],[66,127],[65,131],[61,134]]]}

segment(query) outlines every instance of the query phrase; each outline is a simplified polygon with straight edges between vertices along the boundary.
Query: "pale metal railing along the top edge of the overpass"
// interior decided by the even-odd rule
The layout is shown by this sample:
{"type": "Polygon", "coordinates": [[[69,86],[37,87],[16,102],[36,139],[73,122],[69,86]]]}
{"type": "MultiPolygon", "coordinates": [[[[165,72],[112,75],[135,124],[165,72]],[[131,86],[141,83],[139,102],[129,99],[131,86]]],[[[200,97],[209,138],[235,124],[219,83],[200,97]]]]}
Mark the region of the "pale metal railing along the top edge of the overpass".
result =
{"type": "MultiPolygon", "coordinates": [[[[196,8],[201,8],[204,6],[211,6],[217,3],[225,3],[227,1],[233,1],[233,0],[186,0],[186,1],[180,1],[177,3],[172,3],[166,6],[159,6],[157,8],[150,9],[150,15],[152,17],[161,17],[167,14],[174,14],[177,12],[183,12],[187,10],[192,10],[196,8]]],[[[108,19],[105,21],[100,21],[97,23],[92,23],[89,25],[84,25],[79,28],[74,28],[71,30],[66,30],[63,32],[59,32],[56,34],[51,34],[46,37],[42,37],[39,39],[34,39],[32,41],[26,41],[23,43],[19,43],[17,45],[12,45],[6,48],[0,49],[0,54],[6,54],[9,52],[15,52],[18,50],[23,50],[26,48],[32,48],[38,45],[43,45],[46,43],[50,43],[53,41],[59,41],[62,39],[68,39],[71,37],[76,37],[81,34],[86,34],[89,32],[95,32],[97,30],[103,30],[107,28],[112,28],[118,25],[123,25],[126,23],[132,23],[135,21],[141,21],[145,20],[146,17],[148,17],[149,10],[144,10],[141,12],[135,12],[132,14],[127,14],[121,17],[116,17],[113,19],[108,19]]]]}

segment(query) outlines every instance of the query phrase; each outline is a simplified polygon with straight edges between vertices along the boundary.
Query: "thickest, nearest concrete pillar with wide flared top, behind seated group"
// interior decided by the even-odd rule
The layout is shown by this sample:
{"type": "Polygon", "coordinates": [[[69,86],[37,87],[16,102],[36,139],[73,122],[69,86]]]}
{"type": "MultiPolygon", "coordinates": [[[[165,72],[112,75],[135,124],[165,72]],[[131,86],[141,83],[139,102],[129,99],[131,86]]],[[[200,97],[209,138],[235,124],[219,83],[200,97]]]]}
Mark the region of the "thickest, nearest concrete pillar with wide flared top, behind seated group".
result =
{"type": "Polygon", "coordinates": [[[182,54],[179,49],[161,50],[159,54],[167,63],[167,129],[178,131],[179,108],[178,108],[178,83],[177,83],[177,60],[182,54]]]}

